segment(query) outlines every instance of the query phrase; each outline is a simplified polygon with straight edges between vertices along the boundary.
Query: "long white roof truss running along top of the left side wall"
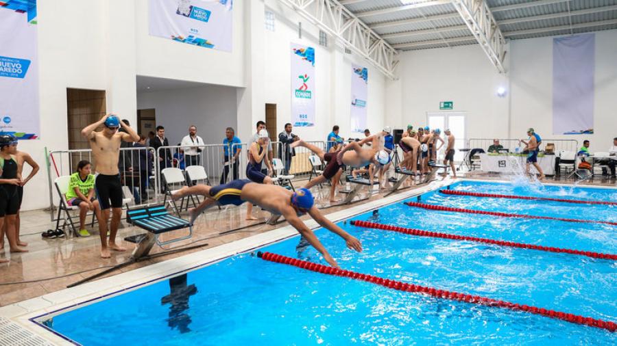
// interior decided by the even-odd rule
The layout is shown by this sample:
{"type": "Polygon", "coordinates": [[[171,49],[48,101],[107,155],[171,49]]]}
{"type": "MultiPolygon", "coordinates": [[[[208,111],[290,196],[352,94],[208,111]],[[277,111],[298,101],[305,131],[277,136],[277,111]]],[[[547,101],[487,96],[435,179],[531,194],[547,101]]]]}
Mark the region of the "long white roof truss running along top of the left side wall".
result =
{"type": "Polygon", "coordinates": [[[337,0],[279,0],[395,79],[398,52],[337,0]]]}

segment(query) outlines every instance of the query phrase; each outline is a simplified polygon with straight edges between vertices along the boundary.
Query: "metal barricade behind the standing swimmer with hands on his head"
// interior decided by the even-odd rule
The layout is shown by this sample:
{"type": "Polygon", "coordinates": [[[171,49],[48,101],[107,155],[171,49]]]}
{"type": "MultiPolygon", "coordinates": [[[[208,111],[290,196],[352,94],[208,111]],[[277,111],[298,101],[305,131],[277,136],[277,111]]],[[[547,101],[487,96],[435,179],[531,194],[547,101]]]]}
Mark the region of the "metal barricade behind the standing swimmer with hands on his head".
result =
{"type": "MultiPolygon", "coordinates": [[[[91,149],[52,150],[48,155],[49,211],[51,221],[56,221],[53,218],[53,209],[60,203],[60,195],[56,189],[58,178],[64,177],[66,181],[68,176],[77,172],[77,164],[83,160],[92,164],[94,173],[97,162],[93,159],[91,149]]],[[[156,186],[158,176],[154,174],[154,168],[154,148],[145,146],[120,148],[118,169],[124,197],[130,198],[130,205],[147,204],[149,200],[157,197],[154,186],[156,186]]],[[[66,193],[66,191],[60,192],[66,193]]]]}

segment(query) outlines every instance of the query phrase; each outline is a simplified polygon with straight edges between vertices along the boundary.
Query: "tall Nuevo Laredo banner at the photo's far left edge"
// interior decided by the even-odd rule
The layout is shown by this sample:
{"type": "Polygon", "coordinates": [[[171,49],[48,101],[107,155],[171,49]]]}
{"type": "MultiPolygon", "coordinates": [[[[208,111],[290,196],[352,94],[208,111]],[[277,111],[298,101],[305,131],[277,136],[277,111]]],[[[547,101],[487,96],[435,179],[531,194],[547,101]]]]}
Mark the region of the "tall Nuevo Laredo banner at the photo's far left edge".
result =
{"type": "Polygon", "coordinates": [[[36,1],[0,1],[0,132],[40,135],[36,1]]]}

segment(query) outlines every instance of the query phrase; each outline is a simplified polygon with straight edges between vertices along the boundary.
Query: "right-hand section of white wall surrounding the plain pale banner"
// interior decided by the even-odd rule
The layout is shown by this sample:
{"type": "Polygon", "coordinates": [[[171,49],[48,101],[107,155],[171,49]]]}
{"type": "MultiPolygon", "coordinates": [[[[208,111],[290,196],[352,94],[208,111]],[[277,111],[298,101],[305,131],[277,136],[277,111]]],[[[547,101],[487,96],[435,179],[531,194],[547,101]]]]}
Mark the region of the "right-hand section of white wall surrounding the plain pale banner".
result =
{"type": "Polygon", "coordinates": [[[553,135],[553,38],[511,42],[512,132],[533,127],[543,137],[590,139],[590,149],[607,151],[617,136],[617,30],[596,32],[594,134],[553,135]]]}

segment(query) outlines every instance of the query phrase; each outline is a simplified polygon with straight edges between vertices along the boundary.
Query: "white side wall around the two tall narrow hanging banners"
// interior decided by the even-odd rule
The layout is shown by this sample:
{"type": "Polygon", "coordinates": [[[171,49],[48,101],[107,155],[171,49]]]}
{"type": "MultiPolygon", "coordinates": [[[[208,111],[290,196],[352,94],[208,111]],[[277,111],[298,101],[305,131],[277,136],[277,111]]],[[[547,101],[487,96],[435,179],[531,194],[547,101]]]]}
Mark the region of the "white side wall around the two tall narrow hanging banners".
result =
{"type": "MultiPolygon", "coordinates": [[[[315,126],[295,127],[293,132],[306,140],[324,140],[338,124],[343,137],[363,137],[350,133],[352,63],[369,69],[367,123],[372,131],[383,128],[385,113],[385,77],[363,59],[343,53],[332,36],[328,47],[319,45],[319,29],[280,1],[266,0],[265,10],[276,16],[275,31],[265,30],[265,83],[263,103],[277,105],[277,131],[291,121],[291,57],[290,44],[304,44],[315,49],[315,126]],[[298,38],[298,22],[302,22],[302,38],[298,38]]],[[[262,15],[261,27],[263,27],[262,15]]],[[[263,107],[263,103],[262,106],[263,107]]],[[[259,119],[257,119],[259,120],[259,119]]]]}

